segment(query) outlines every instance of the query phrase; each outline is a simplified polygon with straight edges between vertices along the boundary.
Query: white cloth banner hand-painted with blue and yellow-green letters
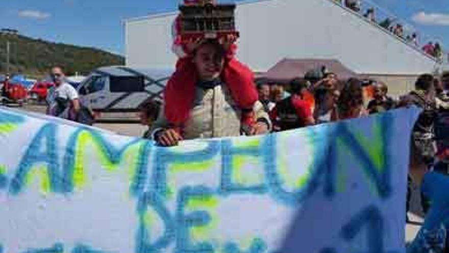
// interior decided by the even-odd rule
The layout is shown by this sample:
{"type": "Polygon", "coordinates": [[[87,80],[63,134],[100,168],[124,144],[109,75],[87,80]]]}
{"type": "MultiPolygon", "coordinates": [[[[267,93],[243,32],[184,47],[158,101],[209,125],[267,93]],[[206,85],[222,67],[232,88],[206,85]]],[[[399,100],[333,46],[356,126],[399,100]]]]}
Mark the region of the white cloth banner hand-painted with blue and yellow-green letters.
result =
{"type": "Polygon", "coordinates": [[[143,139],[0,109],[0,252],[404,252],[417,109],[143,139]]]}

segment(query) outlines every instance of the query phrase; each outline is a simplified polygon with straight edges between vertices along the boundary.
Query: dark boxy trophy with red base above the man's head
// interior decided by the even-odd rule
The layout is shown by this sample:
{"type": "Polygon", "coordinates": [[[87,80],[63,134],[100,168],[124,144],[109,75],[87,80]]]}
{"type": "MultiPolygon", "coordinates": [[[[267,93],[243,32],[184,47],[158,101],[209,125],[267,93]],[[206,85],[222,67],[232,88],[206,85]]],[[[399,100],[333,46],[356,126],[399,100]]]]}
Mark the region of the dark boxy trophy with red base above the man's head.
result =
{"type": "Polygon", "coordinates": [[[216,4],[212,0],[191,0],[180,5],[180,35],[182,41],[191,39],[220,39],[239,33],[235,29],[235,4],[216,4]]]}

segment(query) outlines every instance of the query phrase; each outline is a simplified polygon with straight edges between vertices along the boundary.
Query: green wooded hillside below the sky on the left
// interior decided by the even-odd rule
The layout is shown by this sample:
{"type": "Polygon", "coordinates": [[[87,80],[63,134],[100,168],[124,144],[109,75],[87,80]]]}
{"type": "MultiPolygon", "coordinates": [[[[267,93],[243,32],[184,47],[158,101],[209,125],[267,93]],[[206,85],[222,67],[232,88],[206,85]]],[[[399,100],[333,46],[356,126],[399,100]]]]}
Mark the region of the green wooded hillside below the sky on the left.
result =
{"type": "Polygon", "coordinates": [[[57,64],[64,66],[68,75],[76,72],[85,74],[98,66],[124,64],[122,56],[94,48],[48,42],[23,35],[11,37],[0,34],[0,74],[7,71],[7,38],[11,42],[11,73],[39,77],[57,64]]]}

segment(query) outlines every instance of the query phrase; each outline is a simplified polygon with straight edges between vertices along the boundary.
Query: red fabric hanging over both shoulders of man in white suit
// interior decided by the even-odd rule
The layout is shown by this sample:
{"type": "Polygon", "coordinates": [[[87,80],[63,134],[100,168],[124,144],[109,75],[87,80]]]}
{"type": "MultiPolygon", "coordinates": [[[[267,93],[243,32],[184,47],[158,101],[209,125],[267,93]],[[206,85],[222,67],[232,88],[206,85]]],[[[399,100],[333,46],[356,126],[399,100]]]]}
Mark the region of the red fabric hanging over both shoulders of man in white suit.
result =
{"type": "MultiPolygon", "coordinates": [[[[221,74],[231,96],[241,109],[251,109],[258,99],[253,72],[235,57],[227,59],[221,74]]],[[[190,117],[195,83],[198,81],[195,65],[190,57],[178,60],[176,71],[164,89],[165,118],[174,127],[182,126],[190,117]]]]}

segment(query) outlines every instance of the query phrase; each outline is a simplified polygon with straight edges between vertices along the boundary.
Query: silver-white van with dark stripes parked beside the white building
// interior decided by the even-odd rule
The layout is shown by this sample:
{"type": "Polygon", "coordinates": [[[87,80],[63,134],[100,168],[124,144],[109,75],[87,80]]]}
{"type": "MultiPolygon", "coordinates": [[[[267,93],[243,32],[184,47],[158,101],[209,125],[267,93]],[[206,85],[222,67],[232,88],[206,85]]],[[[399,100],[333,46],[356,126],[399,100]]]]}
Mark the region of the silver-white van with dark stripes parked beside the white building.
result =
{"type": "Polygon", "coordinates": [[[133,112],[151,98],[162,101],[162,91],[174,70],[127,66],[100,67],[78,86],[81,102],[99,112],[133,112]]]}

